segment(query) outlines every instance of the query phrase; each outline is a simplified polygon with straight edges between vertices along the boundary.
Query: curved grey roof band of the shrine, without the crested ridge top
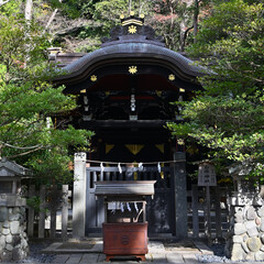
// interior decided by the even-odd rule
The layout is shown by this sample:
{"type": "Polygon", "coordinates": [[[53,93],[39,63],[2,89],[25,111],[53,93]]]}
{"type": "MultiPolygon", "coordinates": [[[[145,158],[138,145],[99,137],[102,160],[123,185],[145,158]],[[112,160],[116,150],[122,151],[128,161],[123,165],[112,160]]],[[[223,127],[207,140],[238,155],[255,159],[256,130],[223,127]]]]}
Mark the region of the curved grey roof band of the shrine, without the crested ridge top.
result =
{"type": "MultiPolygon", "coordinates": [[[[56,78],[57,81],[75,79],[81,76],[89,67],[99,62],[107,59],[125,58],[150,58],[162,62],[167,62],[175,68],[178,68],[183,74],[191,77],[202,76],[207,70],[179,53],[170,51],[166,47],[141,42],[121,43],[116,45],[103,46],[95,52],[88,53],[84,57],[63,67],[64,75],[56,78]]],[[[78,78],[79,79],[79,78],[78,78]]]]}

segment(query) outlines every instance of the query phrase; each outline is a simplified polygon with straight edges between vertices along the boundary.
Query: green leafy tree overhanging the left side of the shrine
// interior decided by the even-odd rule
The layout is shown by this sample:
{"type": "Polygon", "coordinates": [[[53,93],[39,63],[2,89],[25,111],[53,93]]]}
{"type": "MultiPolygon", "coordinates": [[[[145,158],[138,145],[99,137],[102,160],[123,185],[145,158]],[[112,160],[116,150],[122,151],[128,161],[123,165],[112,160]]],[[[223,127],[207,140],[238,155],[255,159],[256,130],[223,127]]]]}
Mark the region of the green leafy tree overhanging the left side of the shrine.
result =
{"type": "Polygon", "coordinates": [[[56,118],[74,110],[74,97],[54,88],[46,35],[21,14],[0,14],[0,155],[31,167],[35,176],[69,182],[73,152],[89,148],[92,132],[56,118]],[[72,150],[72,152],[70,152],[72,150]]]}

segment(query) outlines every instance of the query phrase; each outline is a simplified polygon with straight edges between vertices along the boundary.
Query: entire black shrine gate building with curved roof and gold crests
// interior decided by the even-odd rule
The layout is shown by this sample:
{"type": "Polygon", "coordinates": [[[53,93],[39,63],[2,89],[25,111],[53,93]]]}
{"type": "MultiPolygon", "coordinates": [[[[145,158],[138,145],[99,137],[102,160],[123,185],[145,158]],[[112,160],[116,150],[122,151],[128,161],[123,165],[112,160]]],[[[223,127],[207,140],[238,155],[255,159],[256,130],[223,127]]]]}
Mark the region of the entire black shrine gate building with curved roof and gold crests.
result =
{"type": "Polygon", "coordinates": [[[205,69],[166,48],[134,15],[122,19],[101,48],[57,53],[52,59],[65,73],[56,84],[77,97],[72,124],[96,133],[87,153],[85,194],[79,194],[86,205],[85,215],[79,213],[86,219],[85,234],[100,231],[103,206],[95,199],[95,182],[105,179],[157,180],[155,199],[147,206],[148,232],[187,234],[185,160],[172,162],[185,150],[180,139],[172,140],[166,123],[183,122],[180,106],[172,102],[189,100],[201,89],[197,77],[205,69]]]}

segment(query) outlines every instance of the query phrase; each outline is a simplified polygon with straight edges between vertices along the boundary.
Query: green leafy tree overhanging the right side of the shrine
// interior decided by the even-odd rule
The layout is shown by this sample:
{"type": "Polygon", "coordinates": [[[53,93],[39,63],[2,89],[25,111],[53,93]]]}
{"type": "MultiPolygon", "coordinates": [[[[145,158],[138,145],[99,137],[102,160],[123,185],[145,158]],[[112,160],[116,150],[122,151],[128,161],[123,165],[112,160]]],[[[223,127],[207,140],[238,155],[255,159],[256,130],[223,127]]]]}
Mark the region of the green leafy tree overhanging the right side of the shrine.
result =
{"type": "MultiPolygon", "coordinates": [[[[186,122],[168,124],[211,150],[211,158],[252,168],[264,179],[264,18],[263,3],[222,2],[204,21],[188,52],[204,57],[211,74],[205,90],[184,103],[186,122]]],[[[176,102],[177,103],[177,102],[176,102]]]]}

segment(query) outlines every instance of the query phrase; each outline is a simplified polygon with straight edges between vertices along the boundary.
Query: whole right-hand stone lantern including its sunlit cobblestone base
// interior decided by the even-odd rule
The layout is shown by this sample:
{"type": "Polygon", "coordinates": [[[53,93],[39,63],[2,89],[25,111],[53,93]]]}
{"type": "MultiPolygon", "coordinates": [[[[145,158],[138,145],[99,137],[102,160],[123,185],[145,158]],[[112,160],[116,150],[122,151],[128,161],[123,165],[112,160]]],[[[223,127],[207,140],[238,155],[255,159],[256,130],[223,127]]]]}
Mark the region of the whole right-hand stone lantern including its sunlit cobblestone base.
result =
{"type": "Polygon", "coordinates": [[[235,190],[228,199],[230,228],[226,255],[232,261],[264,261],[264,201],[246,163],[229,167],[235,190]]]}

